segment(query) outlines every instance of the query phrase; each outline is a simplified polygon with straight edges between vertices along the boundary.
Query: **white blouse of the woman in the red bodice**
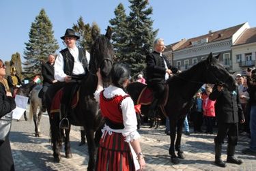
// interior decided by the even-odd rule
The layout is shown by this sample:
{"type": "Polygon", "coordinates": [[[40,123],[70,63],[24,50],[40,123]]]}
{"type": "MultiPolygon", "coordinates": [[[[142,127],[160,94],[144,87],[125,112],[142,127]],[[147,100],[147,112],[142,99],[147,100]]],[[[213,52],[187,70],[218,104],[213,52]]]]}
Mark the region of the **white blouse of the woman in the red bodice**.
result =
{"type": "MultiPolygon", "coordinates": [[[[96,91],[94,93],[94,98],[97,102],[100,101],[100,92],[102,90],[96,91]]],[[[115,95],[126,95],[124,90],[110,85],[109,87],[105,88],[103,91],[103,95],[106,98],[112,98],[115,95]]],[[[130,97],[126,97],[121,103],[122,115],[123,115],[123,123],[124,129],[111,129],[110,127],[106,126],[103,128],[102,131],[114,131],[122,133],[124,137],[126,137],[126,142],[131,142],[132,140],[138,139],[141,136],[137,131],[137,117],[134,109],[133,101],[130,97]]]]}

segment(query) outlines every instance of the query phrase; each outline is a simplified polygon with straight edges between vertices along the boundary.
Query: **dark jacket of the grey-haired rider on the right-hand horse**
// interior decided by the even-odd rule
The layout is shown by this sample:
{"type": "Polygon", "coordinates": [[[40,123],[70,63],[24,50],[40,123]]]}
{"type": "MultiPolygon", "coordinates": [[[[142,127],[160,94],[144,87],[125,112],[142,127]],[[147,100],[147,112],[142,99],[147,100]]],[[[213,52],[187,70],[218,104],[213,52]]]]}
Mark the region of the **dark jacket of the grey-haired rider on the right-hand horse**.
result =
{"type": "Polygon", "coordinates": [[[167,57],[165,55],[162,55],[160,57],[160,54],[156,51],[150,53],[146,57],[146,63],[147,63],[147,83],[158,83],[158,82],[165,82],[165,61],[167,63],[167,67],[171,69],[173,74],[177,72],[176,67],[172,67],[169,63],[167,57]]]}

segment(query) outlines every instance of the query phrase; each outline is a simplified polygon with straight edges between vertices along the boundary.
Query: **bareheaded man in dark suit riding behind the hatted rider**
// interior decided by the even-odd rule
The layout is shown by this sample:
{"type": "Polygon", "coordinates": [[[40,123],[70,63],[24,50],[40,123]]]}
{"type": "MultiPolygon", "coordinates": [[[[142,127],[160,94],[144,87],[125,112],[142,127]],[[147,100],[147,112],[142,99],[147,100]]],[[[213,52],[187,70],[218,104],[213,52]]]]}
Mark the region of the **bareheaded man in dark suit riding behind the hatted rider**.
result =
{"type": "Polygon", "coordinates": [[[42,63],[42,76],[44,78],[43,80],[43,95],[42,95],[42,111],[46,111],[46,106],[44,105],[44,99],[45,99],[45,93],[48,90],[48,88],[57,82],[54,78],[54,63],[55,63],[55,56],[49,55],[48,61],[46,63],[42,63]]]}

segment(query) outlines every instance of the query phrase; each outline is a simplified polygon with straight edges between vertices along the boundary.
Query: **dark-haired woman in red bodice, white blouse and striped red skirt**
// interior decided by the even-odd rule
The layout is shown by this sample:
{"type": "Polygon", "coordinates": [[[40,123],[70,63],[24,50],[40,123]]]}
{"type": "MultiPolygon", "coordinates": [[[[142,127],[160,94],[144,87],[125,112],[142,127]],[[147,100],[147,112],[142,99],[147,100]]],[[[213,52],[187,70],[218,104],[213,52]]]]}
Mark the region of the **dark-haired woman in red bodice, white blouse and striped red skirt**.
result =
{"type": "Polygon", "coordinates": [[[106,119],[98,149],[96,170],[142,170],[145,160],[137,132],[134,104],[124,91],[130,78],[130,70],[124,64],[116,64],[111,70],[112,84],[103,89],[100,71],[98,87],[94,93],[106,119]]]}

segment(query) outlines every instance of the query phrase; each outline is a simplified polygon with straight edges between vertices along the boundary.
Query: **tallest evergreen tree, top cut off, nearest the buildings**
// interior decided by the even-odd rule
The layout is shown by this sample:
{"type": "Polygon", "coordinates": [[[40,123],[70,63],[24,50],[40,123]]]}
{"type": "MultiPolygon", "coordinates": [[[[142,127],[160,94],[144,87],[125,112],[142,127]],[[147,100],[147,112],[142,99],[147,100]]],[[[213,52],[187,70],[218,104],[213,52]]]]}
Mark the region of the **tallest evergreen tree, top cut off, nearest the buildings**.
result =
{"type": "Polygon", "coordinates": [[[143,72],[145,69],[145,56],[150,52],[151,47],[158,33],[153,31],[153,20],[149,17],[153,9],[147,7],[147,0],[129,0],[130,14],[128,16],[129,42],[126,50],[126,58],[130,64],[132,76],[143,72]]]}

